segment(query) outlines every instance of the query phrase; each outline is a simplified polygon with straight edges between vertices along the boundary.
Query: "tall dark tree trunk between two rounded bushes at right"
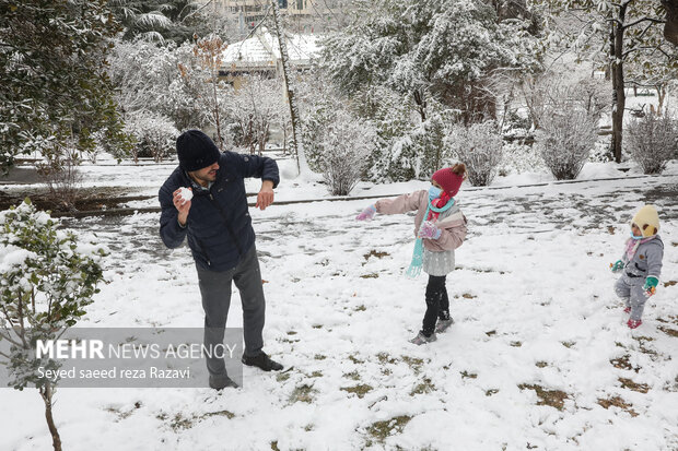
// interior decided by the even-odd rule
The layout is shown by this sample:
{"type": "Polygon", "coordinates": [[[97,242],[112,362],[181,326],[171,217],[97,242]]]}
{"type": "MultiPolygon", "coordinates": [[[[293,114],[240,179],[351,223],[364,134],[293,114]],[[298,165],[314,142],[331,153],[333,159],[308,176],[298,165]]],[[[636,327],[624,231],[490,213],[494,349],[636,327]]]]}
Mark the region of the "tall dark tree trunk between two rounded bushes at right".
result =
{"type": "Polygon", "coordinates": [[[623,138],[623,114],[627,106],[623,80],[623,23],[627,15],[628,4],[619,7],[616,22],[612,22],[610,39],[610,59],[612,75],[612,141],[610,150],[615,162],[621,163],[621,143],[623,138]]]}

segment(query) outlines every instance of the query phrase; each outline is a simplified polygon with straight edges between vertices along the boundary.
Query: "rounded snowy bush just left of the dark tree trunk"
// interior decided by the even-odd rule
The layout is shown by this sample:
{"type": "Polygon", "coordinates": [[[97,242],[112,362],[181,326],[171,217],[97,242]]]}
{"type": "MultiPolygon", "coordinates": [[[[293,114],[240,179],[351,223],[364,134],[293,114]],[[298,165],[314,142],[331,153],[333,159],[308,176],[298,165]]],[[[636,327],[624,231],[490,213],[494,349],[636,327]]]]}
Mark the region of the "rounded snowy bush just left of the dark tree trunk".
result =
{"type": "Polygon", "coordinates": [[[558,180],[573,180],[588,161],[597,140],[593,117],[584,110],[551,112],[537,133],[541,157],[558,180]]]}

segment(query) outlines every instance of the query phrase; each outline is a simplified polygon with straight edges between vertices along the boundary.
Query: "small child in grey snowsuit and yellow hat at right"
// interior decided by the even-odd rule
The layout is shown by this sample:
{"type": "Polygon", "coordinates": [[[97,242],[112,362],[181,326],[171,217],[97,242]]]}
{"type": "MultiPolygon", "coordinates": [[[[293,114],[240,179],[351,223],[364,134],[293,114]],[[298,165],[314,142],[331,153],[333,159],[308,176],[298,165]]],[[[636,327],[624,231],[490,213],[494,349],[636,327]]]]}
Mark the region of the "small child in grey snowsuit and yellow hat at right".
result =
{"type": "Polygon", "coordinates": [[[631,222],[631,237],[621,260],[611,264],[612,272],[622,273],[615,284],[615,293],[624,301],[624,311],[631,313],[627,322],[630,329],[643,323],[645,301],[655,294],[659,283],[664,242],[658,232],[657,211],[652,205],[643,206],[631,222]]]}

